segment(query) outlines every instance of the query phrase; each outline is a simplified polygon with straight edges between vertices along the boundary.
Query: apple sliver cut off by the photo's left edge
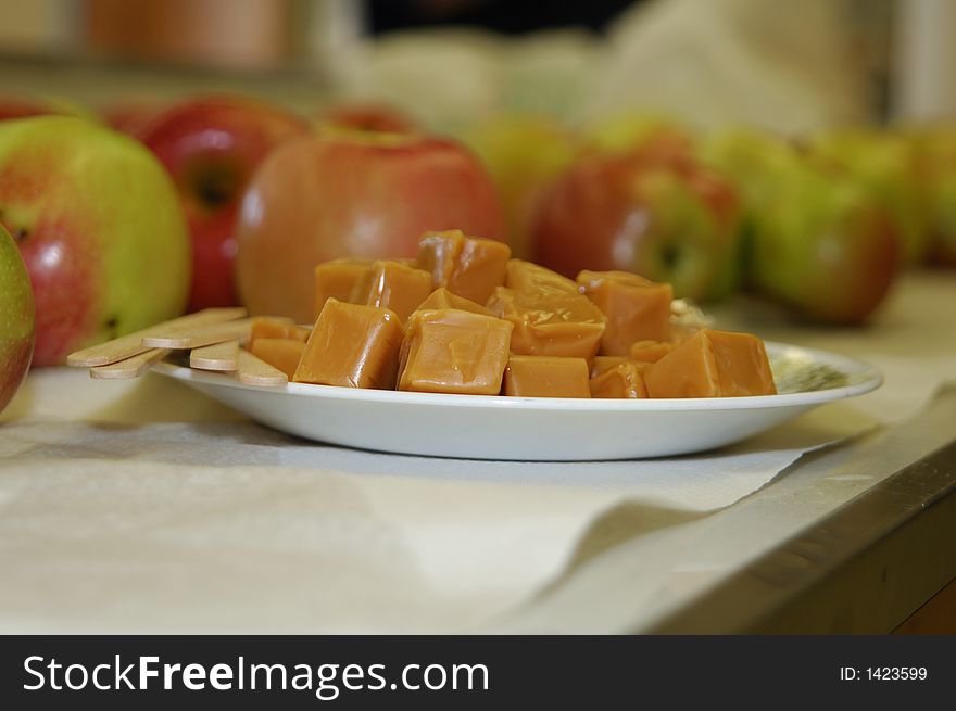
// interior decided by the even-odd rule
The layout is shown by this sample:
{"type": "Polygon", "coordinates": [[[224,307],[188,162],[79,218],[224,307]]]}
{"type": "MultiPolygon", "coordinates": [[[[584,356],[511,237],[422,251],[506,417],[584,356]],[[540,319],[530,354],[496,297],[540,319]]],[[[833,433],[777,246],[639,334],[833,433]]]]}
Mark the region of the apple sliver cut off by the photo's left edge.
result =
{"type": "Polygon", "coordinates": [[[13,238],[0,226],[0,411],[29,370],[34,329],[29,277],[13,238]]]}

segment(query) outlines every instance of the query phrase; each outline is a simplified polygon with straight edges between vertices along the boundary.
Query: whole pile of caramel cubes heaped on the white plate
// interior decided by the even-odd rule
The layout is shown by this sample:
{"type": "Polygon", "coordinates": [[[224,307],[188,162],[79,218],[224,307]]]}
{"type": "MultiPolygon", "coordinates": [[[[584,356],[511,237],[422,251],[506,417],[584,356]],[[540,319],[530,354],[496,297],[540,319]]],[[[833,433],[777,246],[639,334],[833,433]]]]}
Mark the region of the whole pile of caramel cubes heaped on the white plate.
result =
{"type": "Polygon", "coordinates": [[[750,333],[671,325],[670,284],[570,280],[502,242],[428,232],[416,259],[315,267],[315,326],[255,319],[250,350],[300,383],[512,397],[777,392],[750,333]]]}

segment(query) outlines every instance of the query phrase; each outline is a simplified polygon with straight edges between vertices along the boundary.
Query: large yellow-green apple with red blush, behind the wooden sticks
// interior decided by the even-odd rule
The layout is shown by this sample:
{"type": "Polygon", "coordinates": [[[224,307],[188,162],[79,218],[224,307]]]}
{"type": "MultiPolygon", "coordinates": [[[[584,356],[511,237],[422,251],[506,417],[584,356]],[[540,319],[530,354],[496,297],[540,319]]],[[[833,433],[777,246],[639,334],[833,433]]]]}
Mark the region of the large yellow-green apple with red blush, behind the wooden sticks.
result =
{"type": "Polygon", "coordinates": [[[34,365],[186,306],[189,239],[175,188],[127,136],[66,116],[0,123],[0,224],[34,289],[34,365]]]}

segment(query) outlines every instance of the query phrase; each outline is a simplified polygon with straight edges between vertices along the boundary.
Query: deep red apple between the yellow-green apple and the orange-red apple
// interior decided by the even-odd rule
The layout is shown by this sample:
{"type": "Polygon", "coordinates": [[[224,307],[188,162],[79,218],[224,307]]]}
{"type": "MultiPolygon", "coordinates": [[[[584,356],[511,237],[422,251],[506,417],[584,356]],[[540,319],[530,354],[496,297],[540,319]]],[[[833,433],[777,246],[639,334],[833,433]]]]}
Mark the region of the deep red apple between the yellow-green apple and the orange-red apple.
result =
{"type": "Polygon", "coordinates": [[[309,130],[303,118],[241,97],[188,99],[134,127],[179,191],[192,238],[189,310],[238,303],[232,262],[242,193],[274,148],[309,130]]]}

